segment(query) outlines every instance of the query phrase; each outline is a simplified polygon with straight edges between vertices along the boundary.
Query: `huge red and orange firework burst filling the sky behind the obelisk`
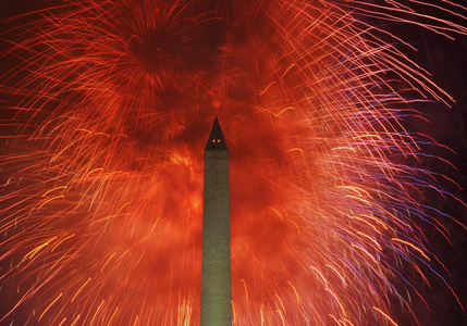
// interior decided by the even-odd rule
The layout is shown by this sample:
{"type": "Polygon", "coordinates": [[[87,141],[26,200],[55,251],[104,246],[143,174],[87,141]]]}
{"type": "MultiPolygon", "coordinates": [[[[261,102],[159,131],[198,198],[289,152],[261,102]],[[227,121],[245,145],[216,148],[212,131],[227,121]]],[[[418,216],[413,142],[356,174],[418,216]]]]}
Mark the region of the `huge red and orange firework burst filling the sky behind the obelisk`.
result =
{"type": "Polygon", "coordinates": [[[4,21],[1,322],[198,324],[216,115],[235,325],[417,324],[433,283],[462,308],[430,236],[465,226],[429,201],[463,203],[423,166],[454,168],[422,131],[454,100],[401,35],[466,35],[466,12],[78,0],[4,21]]]}

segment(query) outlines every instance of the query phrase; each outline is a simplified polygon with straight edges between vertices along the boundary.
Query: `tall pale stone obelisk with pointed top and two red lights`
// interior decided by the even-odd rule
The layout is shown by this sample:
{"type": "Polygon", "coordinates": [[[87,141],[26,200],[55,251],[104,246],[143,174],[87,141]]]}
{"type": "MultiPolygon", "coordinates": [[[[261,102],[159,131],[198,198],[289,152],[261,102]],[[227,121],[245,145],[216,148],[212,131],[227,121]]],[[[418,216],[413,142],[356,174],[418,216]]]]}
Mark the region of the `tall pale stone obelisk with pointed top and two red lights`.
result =
{"type": "Polygon", "coordinates": [[[201,326],[232,325],[229,153],[216,118],[205,149],[201,326]]]}

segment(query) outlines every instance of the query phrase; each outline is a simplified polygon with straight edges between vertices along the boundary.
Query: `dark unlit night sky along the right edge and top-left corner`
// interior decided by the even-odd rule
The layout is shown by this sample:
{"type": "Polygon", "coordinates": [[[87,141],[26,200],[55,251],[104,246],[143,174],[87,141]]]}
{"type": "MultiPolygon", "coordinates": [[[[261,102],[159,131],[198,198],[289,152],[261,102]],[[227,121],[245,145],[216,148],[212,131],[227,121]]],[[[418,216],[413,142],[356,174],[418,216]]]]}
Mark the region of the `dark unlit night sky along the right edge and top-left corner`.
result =
{"type": "MultiPolygon", "coordinates": [[[[454,0],[453,2],[466,5],[463,0],[454,0]]],[[[17,0],[17,1],[1,1],[0,4],[0,21],[7,20],[0,23],[0,32],[7,32],[7,28],[14,26],[17,23],[12,24],[8,22],[11,16],[27,13],[34,10],[38,10],[48,5],[60,3],[60,1],[36,1],[36,0],[17,0]]],[[[466,11],[465,11],[466,13],[466,11]]],[[[34,17],[34,16],[33,16],[34,17]]],[[[19,18],[16,22],[28,22],[30,17],[19,18]]],[[[466,21],[458,20],[458,23],[463,24],[466,21]]],[[[19,39],[23,37],[21,30],[9,33],[8,37],[15,35],[19,39]]],[[[410,35],[413,39],[418,39],[421,43],[425,43],[425,51],[421,50],[419,61],[423,66],[428,67],[433,74],[433,80],[438,83],[442,88],[447,90],[453,96],[456,103],[453,103],[452,110],[431,108],[427,114],[432,116],[432,130],[430,135],[433,135],[439,142],[444,143],[452,148],[457,155],[451,155],[448,159],[458,168],[454,172],[455,180],[459,184],[463,189],[454,189],[456,197],[464,202],[467,201],[467,36],[457,36],[455,40],[448,40],[442,36],[437,36],[432,33],[427,34],[425,32],[418,33],[414,30],[410,35]],[[440,113],[442,112],[442,113],[440,113]]],[[[3,35],[0,35],[3,38],[3,35]]],[[[8,43],[1,41],[0,51],[8,49],[8,43]]],[[[0,61],[0,72],[4,72],[13,65],[11,59],[0,61]]],[[[3,96],[0,100],[5,100],[3,96]]],[[[3,103],[0,103],[3,104],[3,103]]],[[[2,117],[4,112],[2,111],[2,117]]],[[[438,167],[435,168],[444,168],[438,167]]],[[[446,213],[451,214],[458,221],[467,225],[467,209],[454,200],[447,200],[443,204],[443,209],[446,213]]],[[[448,280],[453,285],[454,290],[459,296],[460,301],[467,309],[467,230],[460,230],[460,227],[446,221],[447,229],[452,233],[454,248],[445,246],[441,248],[443,252],[442,256],[445,259],[446,265],[452,272],[452,279],[448,280]]],[[[444,246],[444,244],[443,244],[444,246]]],[[[433,306],[433,314],[437,314],[435,319],[439,321],[434,325],[467,325],[467,315],[462,312],[458,306],[455,305],[455,301],[447,293],[447,290],[442,289],[442,285],[435,285],[440,287],[439,297],[430,298],[430,301],[435,304],[433,306]],[[442,324],[443,318],[447,324],[442,324]]],[[[2,300],[4,300],[2,298],[2,300]]]]}

